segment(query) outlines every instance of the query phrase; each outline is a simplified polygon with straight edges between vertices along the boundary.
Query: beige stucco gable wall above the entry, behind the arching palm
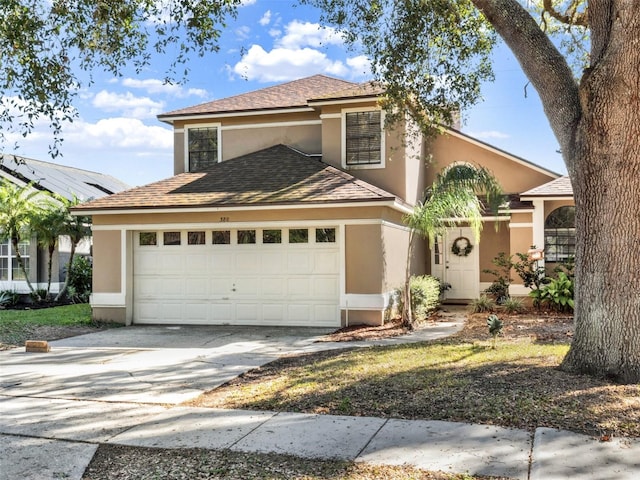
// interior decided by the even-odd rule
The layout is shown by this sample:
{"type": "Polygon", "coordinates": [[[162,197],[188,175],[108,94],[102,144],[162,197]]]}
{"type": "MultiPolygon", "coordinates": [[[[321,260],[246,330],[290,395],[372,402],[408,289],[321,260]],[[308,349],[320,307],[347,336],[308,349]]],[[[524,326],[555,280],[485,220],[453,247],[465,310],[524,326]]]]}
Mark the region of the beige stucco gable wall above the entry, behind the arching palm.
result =
{"type": "Polygon", "coordinates": [[[433,156],[431,168],[427,172],[428,184],[433,182],[437,172],[455,162],[468,162],[488,168],[506,193],[525,192],[555,178],[524,162],[454,135],[438,136],[430,142],[428,150],[433,156]]]}

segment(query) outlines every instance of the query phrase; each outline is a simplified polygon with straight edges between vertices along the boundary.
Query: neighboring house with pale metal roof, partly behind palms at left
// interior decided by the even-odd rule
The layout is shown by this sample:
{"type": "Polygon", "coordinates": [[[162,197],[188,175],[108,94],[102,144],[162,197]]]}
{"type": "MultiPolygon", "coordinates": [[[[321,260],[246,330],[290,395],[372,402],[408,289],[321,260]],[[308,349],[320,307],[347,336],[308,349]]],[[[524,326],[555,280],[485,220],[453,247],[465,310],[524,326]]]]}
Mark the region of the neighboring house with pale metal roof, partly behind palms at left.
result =
{"type": "MultiPolygon", "coordinates": [[[[100,198],[129,188],[109,175],[7,154],[0,156],[0,178],[6,178],[18,186],[33,183],[35,189],[43,192],[57,193],[68,199],[75,195],[80,200],[100,198]]],[[[91,242],[87,239],[78,246],[78,254],[88,255],[90,248],[91,242]]],[[[47,250],[38,248],[36,238],[23,240],[20,249],[28,267],[29,280],[36,288],[46,288],[47,250]]],[[[70,249],[68,238],[61,237],[52,263],[51,290],[54,293],[64,281],[64,268],[70,249]]],[[[0,237],[0,291],[3,290],[29,293],[11,242],[0,237]]]]}

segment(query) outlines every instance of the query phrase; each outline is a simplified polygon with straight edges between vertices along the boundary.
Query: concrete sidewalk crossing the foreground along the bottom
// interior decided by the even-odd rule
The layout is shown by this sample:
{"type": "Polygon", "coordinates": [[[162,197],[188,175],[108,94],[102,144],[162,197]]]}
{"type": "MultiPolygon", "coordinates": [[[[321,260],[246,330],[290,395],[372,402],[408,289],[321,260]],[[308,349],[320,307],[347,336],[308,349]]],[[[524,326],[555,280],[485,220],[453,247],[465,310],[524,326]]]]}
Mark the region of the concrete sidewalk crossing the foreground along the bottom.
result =
{"type": "Polygon", "coordinates": [[[514,479],[640,478],[640,440],[455,422],[0,397],[0,478],[80,479],[98,444],[231,449],[514,479]],[[35,410],[45,408],[42,418],[35,410]],[[7,421],[12,419],[12,421],[7,421]]]}

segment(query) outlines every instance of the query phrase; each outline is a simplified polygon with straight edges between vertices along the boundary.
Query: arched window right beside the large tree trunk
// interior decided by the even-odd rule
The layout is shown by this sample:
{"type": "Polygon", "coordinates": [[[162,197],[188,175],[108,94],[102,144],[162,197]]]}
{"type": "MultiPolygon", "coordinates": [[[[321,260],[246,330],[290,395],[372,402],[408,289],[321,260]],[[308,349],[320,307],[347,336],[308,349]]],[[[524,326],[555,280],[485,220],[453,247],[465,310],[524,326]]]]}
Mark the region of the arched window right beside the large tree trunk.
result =
{"type": "Polygon", "coordinates": [[[563,262],[576,254],[576,207],[556,208],[544,222],[544,256],[563,262]]]}

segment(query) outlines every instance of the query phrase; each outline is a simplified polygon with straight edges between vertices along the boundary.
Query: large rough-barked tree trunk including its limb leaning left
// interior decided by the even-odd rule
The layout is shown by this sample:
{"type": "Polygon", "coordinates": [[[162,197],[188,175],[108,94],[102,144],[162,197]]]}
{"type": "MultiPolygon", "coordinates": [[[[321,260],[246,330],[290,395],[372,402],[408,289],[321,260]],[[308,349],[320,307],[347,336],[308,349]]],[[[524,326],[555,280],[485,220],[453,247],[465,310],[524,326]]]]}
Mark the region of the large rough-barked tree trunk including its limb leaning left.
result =
{"type": "Polygon", "coordinates": [[[576,202],[576,331],[565,370],[640,382],[640,15],[590,0],[591,67],[578,86],[516,0],[472,0],[538,91],[576,202]]]}

